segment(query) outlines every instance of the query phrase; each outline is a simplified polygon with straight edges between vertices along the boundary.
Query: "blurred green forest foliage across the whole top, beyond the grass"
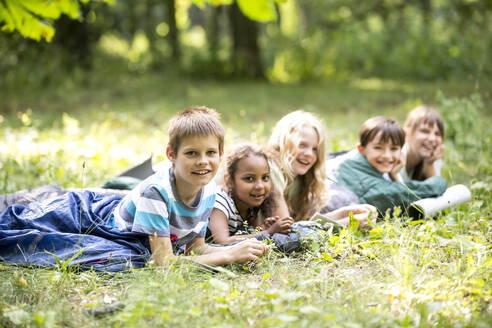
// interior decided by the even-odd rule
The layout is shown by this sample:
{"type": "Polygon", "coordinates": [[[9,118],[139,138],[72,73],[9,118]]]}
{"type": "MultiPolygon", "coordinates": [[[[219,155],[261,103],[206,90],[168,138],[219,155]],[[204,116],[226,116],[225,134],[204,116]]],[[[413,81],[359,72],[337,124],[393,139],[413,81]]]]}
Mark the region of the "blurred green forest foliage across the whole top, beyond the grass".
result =
{"type": "MultiPolygon", "coordinates": [[[[79,74],[79,67],[89,69],[93,61],[101,60],[101,52],[136,73],[167,74],[166,69],[179,68],[200,78],[235,74],[234,44],[246,34],[240,35],[241,40],[231,37],[228,12],[234,0],[176,2],[179,58],[171,56],[166,3],[85,2],[0,1],[4,31],[52,40],[36,44],[2,33],[1,88],[57,84],[62,75],[79,74]],[[63,14],[82,27],[68,26],[69,19],[59,19],[63,14]],[[60,33],[53,37],[56,28],[60,33]]],[[[492,73],[492,7],[486,1],[238,0],[237,4],[258,22],[262,66],[271,81],[352,77],[477,81],[492,73]]]]}

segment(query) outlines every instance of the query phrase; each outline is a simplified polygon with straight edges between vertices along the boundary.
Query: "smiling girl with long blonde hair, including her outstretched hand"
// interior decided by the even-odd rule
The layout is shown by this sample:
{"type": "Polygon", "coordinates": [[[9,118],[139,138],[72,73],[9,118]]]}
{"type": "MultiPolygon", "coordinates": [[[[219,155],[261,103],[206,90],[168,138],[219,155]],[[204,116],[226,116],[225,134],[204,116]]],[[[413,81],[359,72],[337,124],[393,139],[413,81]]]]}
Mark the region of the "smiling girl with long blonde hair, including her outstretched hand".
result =
{"type": "MultiPolygon", "coordinates": [[[[315,115],[298,110],[285,115],[268,141],[272,182],[279,191],[274,215],[309,220],[328,201],[325,188],[325,130],[315,115]]],[[[345,206],[330,213],[332,219],[348,223],[348,213],[359,215],[361,226],[367,215],[375,213],[370,205],[345,206]],[[366,214],[366,215],[364,215],[366,214]]]]}

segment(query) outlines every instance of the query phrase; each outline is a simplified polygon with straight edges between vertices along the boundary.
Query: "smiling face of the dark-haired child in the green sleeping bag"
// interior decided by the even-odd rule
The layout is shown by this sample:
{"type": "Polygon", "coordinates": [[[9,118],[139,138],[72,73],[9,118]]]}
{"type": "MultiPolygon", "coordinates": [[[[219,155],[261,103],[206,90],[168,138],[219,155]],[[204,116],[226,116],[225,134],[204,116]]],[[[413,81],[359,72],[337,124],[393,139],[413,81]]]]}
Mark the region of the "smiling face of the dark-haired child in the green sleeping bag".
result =
{"type": "Polygon", "coordinates": [[[393,166],[398,163],[401,156],[401,146],[393,145],[391,139],[382,142],[381,133],[379,132],[365,147],[359,146],[359,151],[369,164],[379,173],[384,174],[390,173],[393,166]]]}

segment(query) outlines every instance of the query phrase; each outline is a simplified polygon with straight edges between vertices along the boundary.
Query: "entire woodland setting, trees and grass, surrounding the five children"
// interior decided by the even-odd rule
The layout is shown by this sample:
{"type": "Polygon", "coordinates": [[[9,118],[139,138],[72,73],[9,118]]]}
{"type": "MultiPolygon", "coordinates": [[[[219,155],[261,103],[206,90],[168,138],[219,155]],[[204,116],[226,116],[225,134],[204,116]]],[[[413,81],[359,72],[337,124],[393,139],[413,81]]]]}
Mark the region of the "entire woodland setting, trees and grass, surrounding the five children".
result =
{"type": "Polygon", "coordinates": [[[473,194],[436,220],[396,211],[370,233],[231,266],[235,278],[189,263],[115,276],[69,259],[0,264],[0,326],[488,327],[491,12],[490,0],[0,0],[0,193],[99,186],[162,160],[169,118],[190,105],[221,113],[227,148],[312,111],[332,152],[368,117],[403,122],[426,103],[446,122],[443,176],[473,194]]]}

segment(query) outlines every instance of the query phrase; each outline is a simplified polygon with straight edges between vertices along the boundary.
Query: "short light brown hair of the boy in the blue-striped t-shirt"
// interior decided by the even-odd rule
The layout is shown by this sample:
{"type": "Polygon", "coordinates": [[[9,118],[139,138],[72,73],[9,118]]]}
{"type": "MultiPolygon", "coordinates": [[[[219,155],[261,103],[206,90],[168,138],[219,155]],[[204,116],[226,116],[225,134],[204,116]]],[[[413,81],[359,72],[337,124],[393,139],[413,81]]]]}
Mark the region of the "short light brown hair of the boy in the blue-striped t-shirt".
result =
{"type": "Polygon", "coordinates": [[[216,136],[219,151],[224,150],[224,127],[219,121],[219,114],[208,107],[190,107],[176,114],[169,122],[169,147],[178,152],[181,140],[190,136],[216,136]]]}

